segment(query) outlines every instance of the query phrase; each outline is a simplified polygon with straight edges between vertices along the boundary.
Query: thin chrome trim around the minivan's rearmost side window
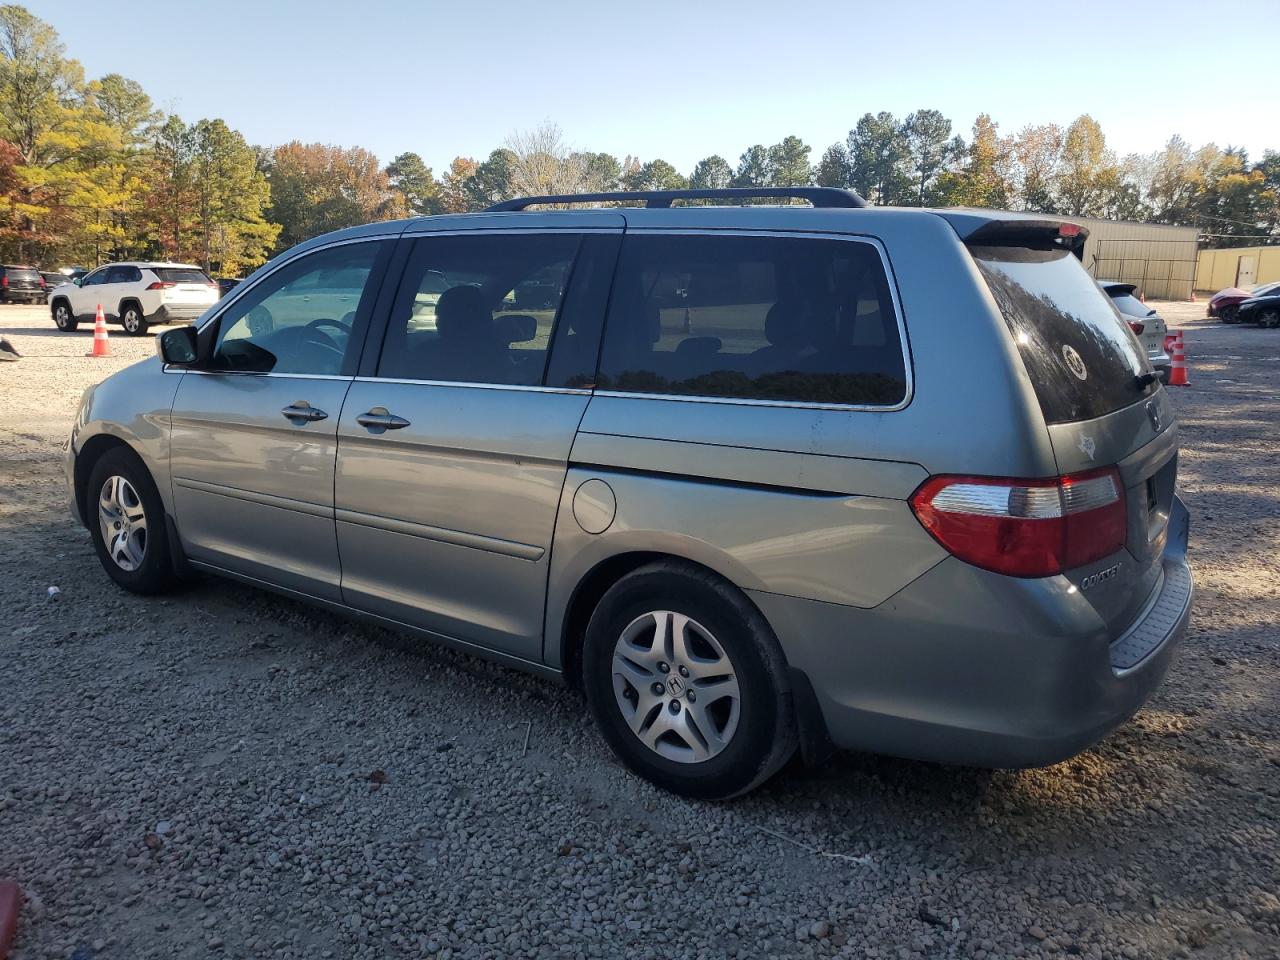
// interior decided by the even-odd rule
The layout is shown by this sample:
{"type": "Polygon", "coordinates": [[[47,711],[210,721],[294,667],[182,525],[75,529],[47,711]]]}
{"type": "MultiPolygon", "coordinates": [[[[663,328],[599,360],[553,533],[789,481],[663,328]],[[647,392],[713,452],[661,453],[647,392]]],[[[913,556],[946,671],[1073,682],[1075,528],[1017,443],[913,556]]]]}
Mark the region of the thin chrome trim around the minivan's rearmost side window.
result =
{"type": "MultiPolygon", "coordinates": [[[[742,406],[742,407],[791,407],[797,410],[835,410],[835,411],[851,411],[851,412],[865,412],[865,413],[896,413],[897,411],[906,410],[910,406],[911,399],[915,397],[915,371],[911,365],[911,344],[906,338],[906,317],[902,311],[902,302],[897,292],[897,278],[893,275],[893,268],[888,261],[888,255],[884,252],[884,244],[876,237],[869,237],[864,234],[855,233],[832,233],[831,230],[768,230],[768,229],[699,229],[699,228],[664,228],[664,227],[636,227],[627,228],[627,234],[636,236],[684,236],[684,237],[790,237],[795,239],[836,239],[845,241],[846,243],[867,243],[876,250],[879,255],[881,266],[884,269],[884,278],[888,280],[888,293],[890,301],[893,303],[893,316],[897,320],[897,343],[899,349],[902,352],[902,371],[904,379],[906,380],[905,389],[902,392],[902,399],[893,404],[869,404],[869,403],[815,403],[806,401],[780,401],[780,399],[756,399],[754,397],[705,397],[701,394],[684,394],[684,393],[635,393],[630,390],[594,390],[596,397],[616,397],[620,399],[655,399],[655,401],[678,401],[681,403],[722,403],[730,406],[742,406]]],[[[604,319],[604,335],[608,335],[608,316],[604,319]]],[[[599,376],[599,370],[596,370],[596,376],[599,376]]]]}

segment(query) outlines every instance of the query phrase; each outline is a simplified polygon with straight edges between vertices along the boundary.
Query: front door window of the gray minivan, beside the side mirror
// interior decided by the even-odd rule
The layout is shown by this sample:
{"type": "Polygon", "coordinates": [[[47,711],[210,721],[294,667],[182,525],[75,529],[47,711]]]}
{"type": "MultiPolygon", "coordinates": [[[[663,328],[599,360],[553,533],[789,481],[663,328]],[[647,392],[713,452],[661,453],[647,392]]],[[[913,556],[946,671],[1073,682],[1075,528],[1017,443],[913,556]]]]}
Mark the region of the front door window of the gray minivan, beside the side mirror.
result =
{"type": "Polygon", "coordinates": [[[210,367],[340,374],[380,250],[376,241],[347,243],[276,270],[219,317],[210,367]]]}

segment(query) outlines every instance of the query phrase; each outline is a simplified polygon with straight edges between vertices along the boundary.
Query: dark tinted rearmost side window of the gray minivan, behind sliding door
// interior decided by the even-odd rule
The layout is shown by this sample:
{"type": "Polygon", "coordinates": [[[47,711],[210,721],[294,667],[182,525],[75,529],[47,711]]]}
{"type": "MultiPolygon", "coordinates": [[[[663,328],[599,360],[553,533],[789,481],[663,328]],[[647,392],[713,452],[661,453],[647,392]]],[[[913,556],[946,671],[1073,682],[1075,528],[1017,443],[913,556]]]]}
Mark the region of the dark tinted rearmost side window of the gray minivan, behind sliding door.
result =
{"type": "Polygon", "coordinates": [[[598,387],[902,403],[906,362],[879,251],[841,239],[628,236],[598,387]]]}

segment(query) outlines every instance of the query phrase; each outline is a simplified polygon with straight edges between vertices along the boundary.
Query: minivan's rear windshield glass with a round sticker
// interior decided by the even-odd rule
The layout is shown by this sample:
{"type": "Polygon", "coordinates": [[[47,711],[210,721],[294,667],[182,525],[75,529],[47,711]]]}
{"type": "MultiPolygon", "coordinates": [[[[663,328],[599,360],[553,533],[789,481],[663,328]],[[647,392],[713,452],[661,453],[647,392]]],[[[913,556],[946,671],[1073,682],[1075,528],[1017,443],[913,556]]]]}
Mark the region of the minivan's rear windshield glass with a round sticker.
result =
{"type": "Polygon", "coordinates": [[[1146,351],[1065,250],[972,247],[1050,424],[1094,420],[1156,390],[1146,351]]]}

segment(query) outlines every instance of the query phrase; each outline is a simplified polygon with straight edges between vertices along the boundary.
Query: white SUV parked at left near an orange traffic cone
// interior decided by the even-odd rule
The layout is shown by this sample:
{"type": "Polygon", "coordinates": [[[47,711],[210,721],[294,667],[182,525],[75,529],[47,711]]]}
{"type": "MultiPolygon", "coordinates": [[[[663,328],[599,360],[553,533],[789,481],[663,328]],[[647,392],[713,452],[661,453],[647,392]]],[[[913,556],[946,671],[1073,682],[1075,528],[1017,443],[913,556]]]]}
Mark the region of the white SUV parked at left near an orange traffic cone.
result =
{"type": "Polygon", "coordinates": [[[191,323],[218,296],[218,284],[191,264],[108,264],[55,287],[49,308],[59,330],[92,323],[101,306],[108,323],[141,337],[151,324],[191,323]]]}

